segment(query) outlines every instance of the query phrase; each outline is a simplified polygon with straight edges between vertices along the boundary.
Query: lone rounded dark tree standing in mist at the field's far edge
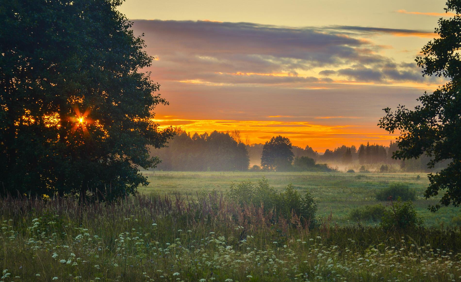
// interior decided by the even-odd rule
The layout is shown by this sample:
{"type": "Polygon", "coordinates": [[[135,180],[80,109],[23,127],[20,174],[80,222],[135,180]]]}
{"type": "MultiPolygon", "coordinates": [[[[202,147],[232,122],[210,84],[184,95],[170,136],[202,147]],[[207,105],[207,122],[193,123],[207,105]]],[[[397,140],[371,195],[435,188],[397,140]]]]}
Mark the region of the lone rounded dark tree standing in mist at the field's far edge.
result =
{"type": "Polygon", "coordinates": [[[277,171],[287,170],[293,162],[293,156],[290,139],[281,135],[272,137],[262,149],[261,167],[277,171]]]}

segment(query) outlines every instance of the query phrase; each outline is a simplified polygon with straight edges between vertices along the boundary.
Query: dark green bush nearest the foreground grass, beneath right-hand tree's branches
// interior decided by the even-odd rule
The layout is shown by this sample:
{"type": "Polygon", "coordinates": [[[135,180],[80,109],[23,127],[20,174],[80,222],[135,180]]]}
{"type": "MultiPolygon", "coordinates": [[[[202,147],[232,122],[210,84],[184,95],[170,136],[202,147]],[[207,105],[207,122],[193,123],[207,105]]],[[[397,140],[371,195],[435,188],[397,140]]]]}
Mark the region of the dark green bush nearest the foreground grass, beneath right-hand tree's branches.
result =
{"type": "Polygon", "coordinates": [[[412,201],[402,204],[401,198],[398,198],[397,201],[391,201],[384,210],[380,225],[385,230],[418,228],[422,226],[422,220],[414,210],[412,201]]]}

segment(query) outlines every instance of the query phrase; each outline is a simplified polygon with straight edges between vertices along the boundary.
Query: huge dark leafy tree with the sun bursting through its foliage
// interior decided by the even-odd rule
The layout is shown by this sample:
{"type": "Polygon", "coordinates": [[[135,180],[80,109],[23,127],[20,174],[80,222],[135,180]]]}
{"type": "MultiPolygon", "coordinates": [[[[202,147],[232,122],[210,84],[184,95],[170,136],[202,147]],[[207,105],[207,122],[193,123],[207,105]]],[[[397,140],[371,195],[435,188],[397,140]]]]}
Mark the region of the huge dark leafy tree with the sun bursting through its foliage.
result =
{"type": "Polygon", "coordinates": [[[147,185],[162,147],[153,109],[167,102],[120,0],[0,4],[0,193],[100,197],[147,185]]]}

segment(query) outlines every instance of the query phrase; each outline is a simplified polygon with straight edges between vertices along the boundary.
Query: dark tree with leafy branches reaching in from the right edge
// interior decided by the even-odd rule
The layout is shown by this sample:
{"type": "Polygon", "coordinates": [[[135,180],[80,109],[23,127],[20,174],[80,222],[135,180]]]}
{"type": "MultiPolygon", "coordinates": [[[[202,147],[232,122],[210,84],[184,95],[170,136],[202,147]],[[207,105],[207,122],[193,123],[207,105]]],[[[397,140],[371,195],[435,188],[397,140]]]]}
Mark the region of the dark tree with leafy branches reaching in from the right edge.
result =
{"type": "Polygon", "coordinates": [[[461,204],[461,1],[447,1],[445,10],[456,15],[439,19],[435,32],[440,38],[427,43],[422,49],[424,57],[417,57],[416,62],[423,68],[423,75],[443,76],[450,81],[434,93],[420,96],[421,105],[414,110],[400,105],[395,112],[385,108],[386,116],[378,124],[389,132],[401,132],[394,158],[405,160],[426,154],[430,157],[429,168],[449,160],[448,167],[428,176],[426,198],[444,190],[432,211],[441,205],[461,204]]]}

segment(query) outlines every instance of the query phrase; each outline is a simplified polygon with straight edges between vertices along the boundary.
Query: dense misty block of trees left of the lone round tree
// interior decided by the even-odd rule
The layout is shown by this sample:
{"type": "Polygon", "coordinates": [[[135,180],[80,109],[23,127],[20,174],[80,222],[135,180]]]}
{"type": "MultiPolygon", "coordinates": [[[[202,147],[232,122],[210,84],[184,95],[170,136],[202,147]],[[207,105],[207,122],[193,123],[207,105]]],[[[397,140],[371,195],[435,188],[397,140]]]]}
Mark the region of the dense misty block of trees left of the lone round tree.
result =
{"type": "Polygon", "coordinates": [[[157,169],[172,171],[234,171],[247,170],[248,151],[242,143],[240,132],[198,134],[175,129],[176,135],[168,147],[153,153],[162,162],[157,169]]]}

